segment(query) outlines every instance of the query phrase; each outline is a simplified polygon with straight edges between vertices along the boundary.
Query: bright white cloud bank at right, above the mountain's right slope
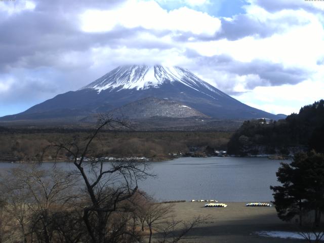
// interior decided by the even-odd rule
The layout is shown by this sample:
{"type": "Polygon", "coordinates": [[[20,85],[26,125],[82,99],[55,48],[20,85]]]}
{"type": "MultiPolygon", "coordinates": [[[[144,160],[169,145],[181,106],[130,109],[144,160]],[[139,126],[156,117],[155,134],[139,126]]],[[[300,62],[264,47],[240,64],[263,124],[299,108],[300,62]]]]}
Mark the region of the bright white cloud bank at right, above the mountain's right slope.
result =
{"type": "MultiPolygon", "coordinates": [[[[265,10],[248,12],[255,21],[274,21],[276,18],[298,17],[307,24],[294,27],[287,26],[286,32],[275,33],[266,38],[247,36],[236,41],[221,39],[219,41],[188,43],[187,46],[204,56],[226,54],[241,62],[251,62],[255,59],[282,63],[286,67],[298,66],[312,69],[316,61],[323,55],[324,28],[319,18],[303,10],[281,11],[268,13],[265,10]],[[266,12],[266,14],[265,14],[266,12]]],[[[285,23],[282,23],[286,25],[285,23]]]]}

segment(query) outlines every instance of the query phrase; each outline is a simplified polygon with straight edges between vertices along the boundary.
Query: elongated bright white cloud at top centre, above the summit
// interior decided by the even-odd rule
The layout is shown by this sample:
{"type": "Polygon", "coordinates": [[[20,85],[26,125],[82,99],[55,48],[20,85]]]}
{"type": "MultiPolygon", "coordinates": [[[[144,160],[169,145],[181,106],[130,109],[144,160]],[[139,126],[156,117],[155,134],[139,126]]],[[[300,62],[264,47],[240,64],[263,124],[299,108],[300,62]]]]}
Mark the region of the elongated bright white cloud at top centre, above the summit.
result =
{"type": "Polygon", "coordinates": [[[80,15],[82,30],[105,32],[120,25],[150,30],[177,30],[213,35],[220,29],[220,20],[207,13],[186,7],[167,11],[154,1],[129,0],[114,10],[87,10],[80,15]]]}

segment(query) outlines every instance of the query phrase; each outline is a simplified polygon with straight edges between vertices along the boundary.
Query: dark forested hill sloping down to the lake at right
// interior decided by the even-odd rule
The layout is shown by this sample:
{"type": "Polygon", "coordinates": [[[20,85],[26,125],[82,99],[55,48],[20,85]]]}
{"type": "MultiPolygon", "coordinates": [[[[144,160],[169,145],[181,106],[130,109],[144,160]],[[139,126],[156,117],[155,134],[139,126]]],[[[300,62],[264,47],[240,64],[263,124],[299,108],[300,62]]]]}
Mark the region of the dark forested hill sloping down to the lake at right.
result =
{"type": "Polygon", "coordinates": [[[324,100],[286,119],[245,121],[228,143],[228,152],[236,155],[288,155],[309,149],[324,152],[324,100]]]}

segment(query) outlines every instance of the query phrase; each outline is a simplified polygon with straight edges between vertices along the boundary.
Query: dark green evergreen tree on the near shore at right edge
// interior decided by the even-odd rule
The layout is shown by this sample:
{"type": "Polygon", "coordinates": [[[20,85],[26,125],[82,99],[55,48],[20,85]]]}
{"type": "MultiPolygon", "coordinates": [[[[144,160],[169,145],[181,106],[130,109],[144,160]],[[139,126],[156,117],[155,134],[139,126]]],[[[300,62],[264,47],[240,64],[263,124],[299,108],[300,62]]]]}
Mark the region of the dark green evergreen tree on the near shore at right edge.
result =
{"type": "Polygon", "coordinates": [[[314,211],[314,223],[320,223],[324,212],[324,155],[311,151],[298,153],[290,164],[282,163],[276,173],[281,186],[270,186],[278,217],[289,221],[314,211]]]}

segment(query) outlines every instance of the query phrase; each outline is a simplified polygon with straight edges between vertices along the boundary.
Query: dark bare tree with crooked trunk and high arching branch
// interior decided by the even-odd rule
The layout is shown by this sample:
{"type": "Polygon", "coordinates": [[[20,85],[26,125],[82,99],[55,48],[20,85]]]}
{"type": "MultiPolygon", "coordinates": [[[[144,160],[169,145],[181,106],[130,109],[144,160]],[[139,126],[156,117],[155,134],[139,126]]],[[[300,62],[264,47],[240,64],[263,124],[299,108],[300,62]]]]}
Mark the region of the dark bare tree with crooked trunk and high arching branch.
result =
{"type": "MultiPolygon", "coordinates": [[[[125,202],[138,190],[137,182],[151,176],[148,165],[136,161],[104,163],[104,160],[92,159],[86,162],[91,143],[105,127],[128,127],[125,120],[114,119],[111,115],[101,115],[98,128],[84,141],[75,138],[69,143],[57,143],[57,154],[67,152],[73,158],[73,164],[82,177],[88,205],[83,209],[83,220],[94,243],[116,242],[127,236],[136,238],[127,228],[129,209],[125,202]],[[115,219],[124,219],[116,225],[115,219]],[[125,215],[124,215],[125,214],[125,215]]],[[[128,238],[130,240],[130,238],[128,238]]]]}

